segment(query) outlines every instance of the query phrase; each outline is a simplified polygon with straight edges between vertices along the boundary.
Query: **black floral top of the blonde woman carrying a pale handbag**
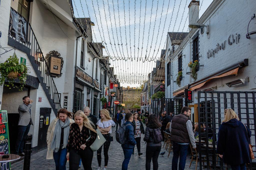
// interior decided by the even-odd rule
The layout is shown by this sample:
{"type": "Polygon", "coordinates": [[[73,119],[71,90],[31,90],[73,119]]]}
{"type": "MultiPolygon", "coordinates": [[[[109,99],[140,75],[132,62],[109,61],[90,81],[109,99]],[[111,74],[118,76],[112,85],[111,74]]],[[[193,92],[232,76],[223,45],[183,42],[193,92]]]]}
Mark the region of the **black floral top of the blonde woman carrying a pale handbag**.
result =
{"type": "Polygon", "coordinates": [[[78,124],[76,123],[71,124],[70,130],[69,130],[68,145],[67,145],[68,152],[70,151],[70,149],[79,151],[80,146],[83,144],[86,145],[85,149],[90,147],[97,137],[97,133],[91,130],[90,130],[90,133],[89,133],[89,129],[85,126],[83,126],[82,131],[80,132],[80,128],[78,124]],[[86,139],[90,137],[90,133],[91,133],[91,138],[88,141],[86,141],[86,139]]]}

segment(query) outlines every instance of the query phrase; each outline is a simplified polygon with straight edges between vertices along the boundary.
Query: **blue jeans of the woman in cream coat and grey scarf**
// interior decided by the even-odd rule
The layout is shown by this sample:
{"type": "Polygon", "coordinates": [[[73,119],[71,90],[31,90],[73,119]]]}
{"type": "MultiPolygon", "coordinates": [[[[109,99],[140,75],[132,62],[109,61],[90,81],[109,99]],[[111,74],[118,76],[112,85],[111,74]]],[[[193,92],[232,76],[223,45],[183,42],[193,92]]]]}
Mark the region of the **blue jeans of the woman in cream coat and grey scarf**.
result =
{"type": "Polygon", "coordinates": [[[67,148],[59,149],[58,152],[53,152],[56,170],[66,170],[67,153],[67,148]]]}

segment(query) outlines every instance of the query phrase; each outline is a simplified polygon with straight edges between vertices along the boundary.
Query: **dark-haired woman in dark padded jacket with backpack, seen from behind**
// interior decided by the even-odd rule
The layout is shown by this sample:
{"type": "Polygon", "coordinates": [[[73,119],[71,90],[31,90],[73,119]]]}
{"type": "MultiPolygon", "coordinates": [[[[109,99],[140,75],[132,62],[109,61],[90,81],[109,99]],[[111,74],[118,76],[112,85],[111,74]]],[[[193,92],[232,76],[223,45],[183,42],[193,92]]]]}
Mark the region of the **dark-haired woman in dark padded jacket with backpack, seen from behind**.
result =
{"type": "Polygon", "coordinates": [[[147,142],[146,146],[146,170],[150,170],[151,159],[153,162],[153,170],[158,169],[158,155],[161,151],[161,141],[158,143],[154,142],[153,131],[161,128],[162,124],[158,121],[155,114],[151,114],[148,117],[145,129],[144,141],[147,142]]]}

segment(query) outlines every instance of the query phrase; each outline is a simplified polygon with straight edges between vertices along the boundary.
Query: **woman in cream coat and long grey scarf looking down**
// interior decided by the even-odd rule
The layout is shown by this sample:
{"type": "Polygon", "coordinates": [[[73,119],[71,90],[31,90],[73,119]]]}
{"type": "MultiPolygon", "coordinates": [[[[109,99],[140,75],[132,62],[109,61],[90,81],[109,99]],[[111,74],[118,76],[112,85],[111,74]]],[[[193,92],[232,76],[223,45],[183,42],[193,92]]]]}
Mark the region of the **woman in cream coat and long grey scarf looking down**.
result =
{"type": "Polygon", "coordinates": [[[56,170],[66,170],[69,128],[74,123],[72,114],[67,109],[60,109],[47,130],[46,159],[54,159],[56,170]]]}

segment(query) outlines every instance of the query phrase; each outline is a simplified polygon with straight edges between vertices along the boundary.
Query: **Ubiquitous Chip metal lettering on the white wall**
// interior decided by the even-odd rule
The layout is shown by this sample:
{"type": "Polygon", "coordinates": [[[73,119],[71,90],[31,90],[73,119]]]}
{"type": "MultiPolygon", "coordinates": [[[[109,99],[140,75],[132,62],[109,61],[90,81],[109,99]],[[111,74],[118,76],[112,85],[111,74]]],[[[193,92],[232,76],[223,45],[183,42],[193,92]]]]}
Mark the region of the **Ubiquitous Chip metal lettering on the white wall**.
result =
{"type": "Polygon", "coordinates": [[[228,41],[229,45],[232,45],[234,43],[236,43],[236,44],[239,43],[239,40],[240,40],[240,34],[236,34],[236,35],[231,34],[231,35],[229,35],[228,40],[225,40],[221,44],[217,43],[216,47],[214,47],[213,49],[208,50],[208,52],[206,53],[207,58],[215,57],[215,54],[217,54],[220,50],[225,50],[227,41],[228,41]]]}

